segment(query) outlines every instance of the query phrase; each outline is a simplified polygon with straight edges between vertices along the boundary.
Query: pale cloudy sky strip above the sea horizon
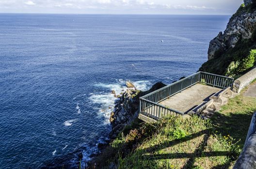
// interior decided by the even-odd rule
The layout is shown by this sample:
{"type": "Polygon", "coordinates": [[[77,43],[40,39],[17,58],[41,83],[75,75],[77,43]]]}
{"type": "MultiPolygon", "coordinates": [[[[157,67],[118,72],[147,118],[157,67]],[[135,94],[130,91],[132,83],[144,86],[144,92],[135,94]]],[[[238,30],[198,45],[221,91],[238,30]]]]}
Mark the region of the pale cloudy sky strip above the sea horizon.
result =
{"type": "Polygon", "coordinates": [[[0,13],[234,14],[243,0],[0,0],[0,13]]]}

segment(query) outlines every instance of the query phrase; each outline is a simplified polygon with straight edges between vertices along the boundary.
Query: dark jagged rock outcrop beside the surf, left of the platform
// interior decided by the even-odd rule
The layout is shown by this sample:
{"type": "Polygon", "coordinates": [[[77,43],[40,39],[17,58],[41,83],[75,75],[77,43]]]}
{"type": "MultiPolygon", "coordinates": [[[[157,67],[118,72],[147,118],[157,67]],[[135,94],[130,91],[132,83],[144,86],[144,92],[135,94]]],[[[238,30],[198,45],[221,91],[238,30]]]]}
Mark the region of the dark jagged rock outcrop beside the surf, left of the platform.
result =
{"type": "MultiPolygon", "coordinates": [[[[131,124],[139,115],[139,98],[150,92],[164,87],[165,84],[157,83],[148,91],[142,92],[136,88],[128,88],[123,95],[115,101],[115,107],[111,113],[110,122],[112,131],[110,138],[114,139],[123,130],[131,124]]],[[[136,87],[136,86],[135,86],[136,87]]]]}

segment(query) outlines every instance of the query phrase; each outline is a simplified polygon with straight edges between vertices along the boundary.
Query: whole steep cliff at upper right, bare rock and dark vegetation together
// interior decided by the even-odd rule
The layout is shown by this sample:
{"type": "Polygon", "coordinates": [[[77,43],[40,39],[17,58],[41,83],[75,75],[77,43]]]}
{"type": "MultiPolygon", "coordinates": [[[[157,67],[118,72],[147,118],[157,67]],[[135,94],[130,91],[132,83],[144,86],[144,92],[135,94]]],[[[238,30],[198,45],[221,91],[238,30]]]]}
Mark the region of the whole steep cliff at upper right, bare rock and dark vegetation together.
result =
{"type": "Polygon", "coordinates": [[[255,47],[255,34],[256,0],[244,0],[237,13],[230,18],[224,32],[210,41],[208,62],[200,70],[224,74],[232,61],[248,55],[248,51],[255,47]],[[213,64],[217,67],[212,68],[213,64]]]}

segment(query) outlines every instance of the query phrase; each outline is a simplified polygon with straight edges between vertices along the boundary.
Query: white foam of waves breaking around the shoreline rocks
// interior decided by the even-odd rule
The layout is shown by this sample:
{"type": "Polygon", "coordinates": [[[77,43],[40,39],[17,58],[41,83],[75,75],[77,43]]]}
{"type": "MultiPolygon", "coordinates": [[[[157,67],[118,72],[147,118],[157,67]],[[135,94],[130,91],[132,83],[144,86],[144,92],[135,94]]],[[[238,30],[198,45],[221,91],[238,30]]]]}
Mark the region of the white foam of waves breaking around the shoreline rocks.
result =
{"type": "MultiPolygon", "coordinates": [[[[114,97],[112,94],[112,90],[115,91],[115,95],[122,95],[128,88],[126,86],[126,80],[118,79],[116,80],[116,84],[95,84],[96,87],[101,87],[103,89],[109,89],[109,92],[98,92],[98,93],[91,93],[90,99],[93,103],[99,104],[99,107],[95,107],[94,109],[97,110],[97,113],[103,114],[105,117],[104,124],[109,124],[110,114],[113,111],[114,101],[118,98],[114,97]]],[[[151,86],[149,81],[136,81],[131,82],[135,85],[138,90],[147,90],[151,86]]]]}

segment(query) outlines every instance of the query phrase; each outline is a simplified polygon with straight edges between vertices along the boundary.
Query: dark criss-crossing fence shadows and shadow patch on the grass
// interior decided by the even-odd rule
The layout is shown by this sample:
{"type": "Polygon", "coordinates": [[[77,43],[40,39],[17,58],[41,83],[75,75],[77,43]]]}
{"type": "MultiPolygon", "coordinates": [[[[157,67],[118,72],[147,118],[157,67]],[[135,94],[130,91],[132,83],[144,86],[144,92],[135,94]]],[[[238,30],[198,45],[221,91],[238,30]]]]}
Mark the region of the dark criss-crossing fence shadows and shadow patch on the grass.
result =
{"type": "MultiPolygon", "coordinates": [[[[223,114],[217,114],[217,115],[222,115],[222,120],[227,120],[227,122],[231,121],[230,118],[232,118],[233,120],[234,119],[239,119],[239,118],[243,118],[245,120],[248,120],[250,124],[250,118],[251,116],[250,115],[246,115],[246,114],[233,114],[234,116],[230,116],[230,117],[225,117],[224,118],[224,115],[223,114]]],[[[219,118],[218,118],[219,119],[219,118]]],[[[248,124],[244,124],[244,128],[246,128],[248,126],[248,124]]],[[[229,126],[229,125],[233,125],[233,124],[229,124],[229,123],[226,123],[226,126],[229,126]]],[[[224,127],[224,126],[222,126],[224,127]]],[[[239,127],[239,125],[238,125],[239,127]]],[[[232,127],[231,127],[232,128],[232,127]]],[[[189,158],[186,162],[186,164],[182,167],[182,169],[193,169],[195,166],[194,166],[194,163],[195,163],[195,159],[198,158],[198,157],[211,157],[211,156],[229,156],[232,161],[235,160],[234,159],[234,156],[237,156],[237,155],[234,155],[233,152],[229,152],[229,151],[213,151],[213,152],[204,152],[204,150],[206,149],[206,146],[208,144],[208,139],[210,137],[210,134],[211,134],[211,131],[213,130],[213,128],[208,128],[206,130],[202,130],[200,132],[197,132],[197,133],[193,133],[189,136],[186,136],[182,139],[176,139],[174,141],[165,141],[161,144],[157,144],[157,145],[154,145],[152,147],[149,147],[149,148],[146,148],[146,149],[142,149],[140,150],[142,154],[146,154],[146,153],[154,153],[156,151],[159,151],[159,150],[162,150],[162,149],[165,149],[167,147],[170,147],[170,146],[174,146],[178,143],[182,143],[182,142],[186,142],[186,141],[189,141],[189,140],[192,140],[192,139],[195,139],[195,138],[198,138],[202,135],[204,135],[204,139],[203,141],[197,146],[197,148],[195,149],[194,152],[192,153],[167,153],[167,154],[157,154],[157,155],[142,155],[142,160],[161,160],[161,159],[180,159],[180,158],[189,158]]],[[[248,130],[248,128],[246,129],[246,131],[248,130]]],[[[230,131],[228,128],[227,128],[227,131],[230,131]]],[[[246,137],[246,132],[244,132],[245,129],[243,129],[243,132],[241,132],[240,134],[244,134],[244,139],[246,137]]],[[[229,132],[231,134],[231,132],[229,132]]],[[[214,166],[212,167],[212,169],[227,169],[231,164],[231,160],[229,161],[226,161],[224,164],[222,165],[218,165],[218,166],[214,166]]]]}

